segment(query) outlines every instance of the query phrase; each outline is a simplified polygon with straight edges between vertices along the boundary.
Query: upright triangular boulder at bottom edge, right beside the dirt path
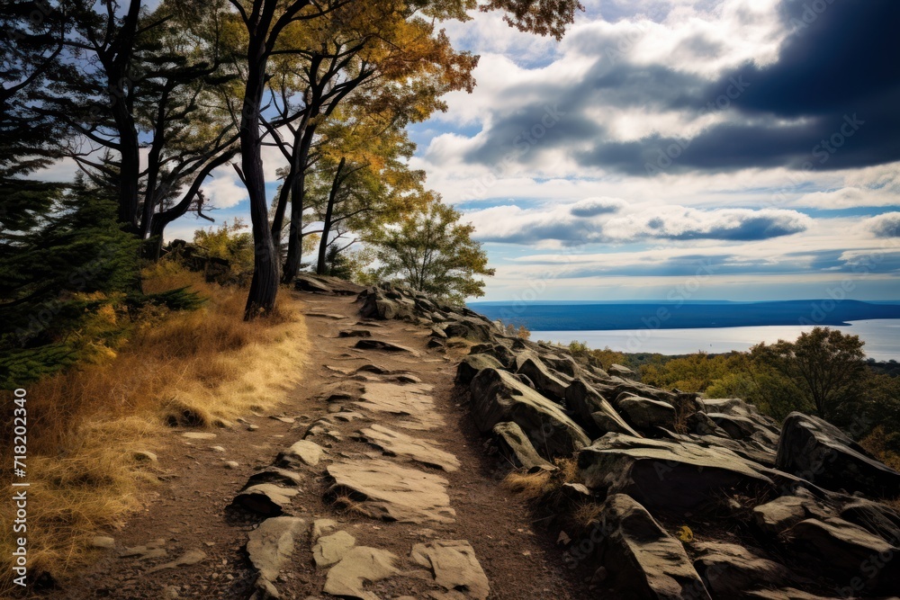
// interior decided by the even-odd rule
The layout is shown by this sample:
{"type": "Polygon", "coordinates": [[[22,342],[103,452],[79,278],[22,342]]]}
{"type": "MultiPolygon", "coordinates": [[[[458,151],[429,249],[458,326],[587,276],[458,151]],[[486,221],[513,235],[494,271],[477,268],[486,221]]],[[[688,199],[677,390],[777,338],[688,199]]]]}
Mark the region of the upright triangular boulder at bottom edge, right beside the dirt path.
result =
{"type": "Polygon", "coordinates": [[[625,494],[603,503],[597,597],[680,600],[709,594],[681,543],[666,533],[644,506],[625,494]]]}

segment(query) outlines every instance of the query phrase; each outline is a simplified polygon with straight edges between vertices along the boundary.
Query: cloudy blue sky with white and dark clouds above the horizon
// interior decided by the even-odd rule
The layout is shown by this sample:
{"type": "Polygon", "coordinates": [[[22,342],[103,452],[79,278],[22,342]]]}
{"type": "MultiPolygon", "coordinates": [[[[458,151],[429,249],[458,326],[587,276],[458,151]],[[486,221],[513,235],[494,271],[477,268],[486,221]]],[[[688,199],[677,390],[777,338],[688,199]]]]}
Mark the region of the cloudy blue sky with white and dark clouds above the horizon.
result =
{"type": "Polygon", "coordinates": [[[475,225],[482,300],[900,299],[900,2],[583,4],[560,42],[446,23],[478,85],[411,166],[475,225]]]}

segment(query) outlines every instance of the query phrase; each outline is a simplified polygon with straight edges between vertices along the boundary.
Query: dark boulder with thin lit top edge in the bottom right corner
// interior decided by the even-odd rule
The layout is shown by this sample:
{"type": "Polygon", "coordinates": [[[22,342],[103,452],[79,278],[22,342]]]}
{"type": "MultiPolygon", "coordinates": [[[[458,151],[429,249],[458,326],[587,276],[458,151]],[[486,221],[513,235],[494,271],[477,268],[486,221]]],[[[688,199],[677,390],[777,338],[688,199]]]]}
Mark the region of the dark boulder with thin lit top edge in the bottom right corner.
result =
{"type": "Polygon", "coordinates": [[[900,589],[900,569],[891,564],[900,547],[860,526],[836,517],[806,519],[783,537],[788,551],[813,561],[807,562],[811,572],[849,585],[851,592],[896,594],[900,589]]]}

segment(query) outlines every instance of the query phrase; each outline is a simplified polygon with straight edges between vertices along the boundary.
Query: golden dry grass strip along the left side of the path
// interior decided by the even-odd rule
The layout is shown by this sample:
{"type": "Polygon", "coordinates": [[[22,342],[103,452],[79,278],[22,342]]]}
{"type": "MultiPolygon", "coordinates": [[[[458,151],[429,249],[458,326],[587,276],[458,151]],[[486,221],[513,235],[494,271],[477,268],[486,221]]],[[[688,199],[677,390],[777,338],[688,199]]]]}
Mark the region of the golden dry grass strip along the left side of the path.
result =
{"type": "MultiPolygon", "coordinates": [[[[148,273],[145,291],[190,285],[210,300],[193,312],[157,315],[118,354],[28,387],[28,559],[31,574],[65,576],[91,558],[88,543],[120,525],[155,480],[133,453],[164,442],[166,425],[223,425],[275,405],[298,381],[307,349],[297,301],[282,294],[276,314],[242,320],[246,291],[202,282],[174,266],[148,273]]],[[[11,406],[10,402],[4,402],[11,406]]],[[[0,450],[12,462],[10,444],[0,450]]],[[[0,505],[4,523],[11,502],[0,505]]],[[[14,533],[0,533],[0,596],[9,580],[14,533]]]]}

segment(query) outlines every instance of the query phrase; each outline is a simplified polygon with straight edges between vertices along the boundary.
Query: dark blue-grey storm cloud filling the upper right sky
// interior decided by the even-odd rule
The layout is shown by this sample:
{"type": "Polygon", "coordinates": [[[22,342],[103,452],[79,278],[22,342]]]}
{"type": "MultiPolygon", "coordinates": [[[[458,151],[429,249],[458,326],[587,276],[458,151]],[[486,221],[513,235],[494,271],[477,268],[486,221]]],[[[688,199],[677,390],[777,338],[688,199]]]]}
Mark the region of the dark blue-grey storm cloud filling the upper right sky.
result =
{"type": "MultiPolygon", "coordinates": [[[[579,52],[598,57],[581,83],[513,90],[545,103],[513,114],[500,109],[466,159],[490,164],[513,156],[534,165],[545,150],[563,149],[582,166],[629,175],[775,166],[833,170],[900,160],[900,1],[785,0],[780,13],[792,32],[778,59],[764,67],[744,65],[713,82],[662,65],[610,60],[605,52],[615,40],[576,35],[571,43],[579,52]],[[561,116],[542,130],[547,105],[561,116]],[[604,107],[694,117],[715,111],[726,121],[693,139],[656,134],[617,141],[589,116],[604,107]]],[[[716,53],[715,43],[700,37],[684,43],[689,55],[716,53]]]]}

